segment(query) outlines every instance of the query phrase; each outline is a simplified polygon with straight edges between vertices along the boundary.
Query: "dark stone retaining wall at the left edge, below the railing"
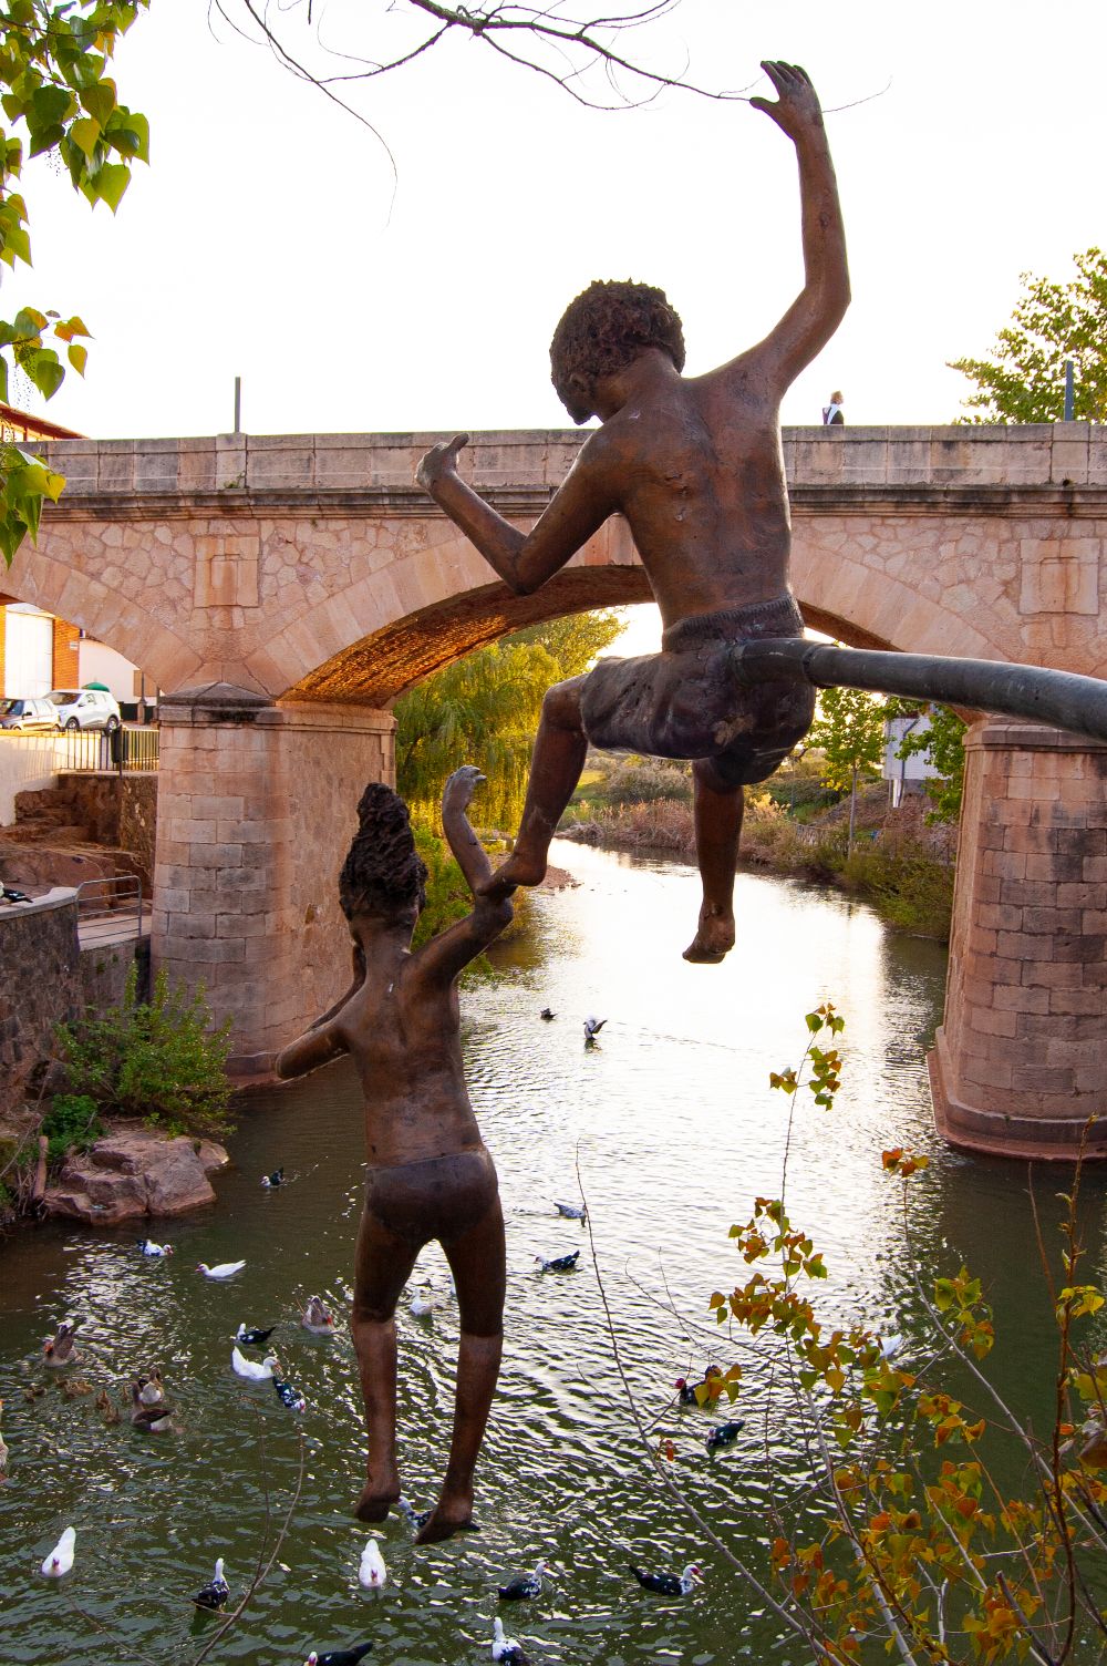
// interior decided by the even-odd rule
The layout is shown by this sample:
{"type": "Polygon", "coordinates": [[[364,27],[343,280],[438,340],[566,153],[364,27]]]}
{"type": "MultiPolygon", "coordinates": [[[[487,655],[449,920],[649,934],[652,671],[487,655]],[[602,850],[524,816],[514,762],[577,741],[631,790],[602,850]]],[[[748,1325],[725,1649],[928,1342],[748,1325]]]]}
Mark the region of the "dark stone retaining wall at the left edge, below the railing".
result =
{"type": "Polygon", "coordinates": [[[77,898],[50,891],[0,913],[0,1116],[52,1051],[53,1026],[82,1008],[77,898]]]}

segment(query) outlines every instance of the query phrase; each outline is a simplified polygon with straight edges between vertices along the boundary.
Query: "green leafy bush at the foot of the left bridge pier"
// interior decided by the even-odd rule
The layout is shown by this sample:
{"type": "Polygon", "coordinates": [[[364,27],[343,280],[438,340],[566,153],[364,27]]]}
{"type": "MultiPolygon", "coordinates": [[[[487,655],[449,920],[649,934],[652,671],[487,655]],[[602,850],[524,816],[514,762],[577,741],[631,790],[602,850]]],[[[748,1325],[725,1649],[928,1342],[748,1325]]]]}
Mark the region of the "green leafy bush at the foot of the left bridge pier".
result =
{"type": "Polygon", "coordinates": [[[58,1025],[57,1038],[72,1095],[102,1113],[140,1116],[171,1133],[225,1135],[231,1086],[226,1080],[230,1020],[210,1030],[203,990],[170,988],[165,971],[150,1003],[137,1000],[137,968],[127,975],[122,1006],[103,1018],[58,1025]]]}

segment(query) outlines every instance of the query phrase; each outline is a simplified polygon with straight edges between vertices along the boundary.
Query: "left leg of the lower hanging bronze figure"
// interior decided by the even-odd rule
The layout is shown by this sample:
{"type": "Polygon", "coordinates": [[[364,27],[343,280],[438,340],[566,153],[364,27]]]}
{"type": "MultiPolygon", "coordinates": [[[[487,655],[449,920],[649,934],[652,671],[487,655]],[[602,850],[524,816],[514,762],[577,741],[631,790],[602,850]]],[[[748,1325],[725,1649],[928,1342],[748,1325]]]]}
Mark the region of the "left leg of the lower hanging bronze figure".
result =
{"type": "Polygon", "coordinates": [[[396,1301],[418,1246],[390,1233],[368,1210],[358,1231],[353,1346],[358,1354],[365,1423],[370,1434],[366,1481],[358,1521],[383,1521],[400,1498],[396,1469],[396,1301]]]}

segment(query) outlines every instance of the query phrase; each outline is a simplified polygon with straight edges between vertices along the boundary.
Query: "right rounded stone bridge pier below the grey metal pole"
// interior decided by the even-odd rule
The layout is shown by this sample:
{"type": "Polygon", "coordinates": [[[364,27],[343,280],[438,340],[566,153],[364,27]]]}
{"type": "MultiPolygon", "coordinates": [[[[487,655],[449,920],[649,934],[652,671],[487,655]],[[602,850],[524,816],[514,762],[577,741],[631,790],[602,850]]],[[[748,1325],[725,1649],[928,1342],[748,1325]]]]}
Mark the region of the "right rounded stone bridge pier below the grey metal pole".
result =
{"type": "Polygon", "coordinates": [[[1107,745],[1019,720],[966,736],[939,1131],[967,1151],[1107,1156],[1107,745]]]}

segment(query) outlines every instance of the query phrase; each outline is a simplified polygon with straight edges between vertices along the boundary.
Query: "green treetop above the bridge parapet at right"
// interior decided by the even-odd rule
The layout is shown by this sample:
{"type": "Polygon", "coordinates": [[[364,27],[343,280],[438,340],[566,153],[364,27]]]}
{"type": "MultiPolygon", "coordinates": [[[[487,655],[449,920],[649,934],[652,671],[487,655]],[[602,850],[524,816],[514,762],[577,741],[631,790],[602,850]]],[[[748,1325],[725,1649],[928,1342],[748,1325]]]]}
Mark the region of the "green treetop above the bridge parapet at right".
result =
{"type": "Polygon", "coordinates": [[[951,370],[975,382],[967,421],[1060,421],[1065,360],[1075,373],[1074,416],[1107,421],[1107,255],[1072,257],[1067,283],[1020,275],[1022,297],[995,337],[992,358],[957,358],[951,370]]]}

